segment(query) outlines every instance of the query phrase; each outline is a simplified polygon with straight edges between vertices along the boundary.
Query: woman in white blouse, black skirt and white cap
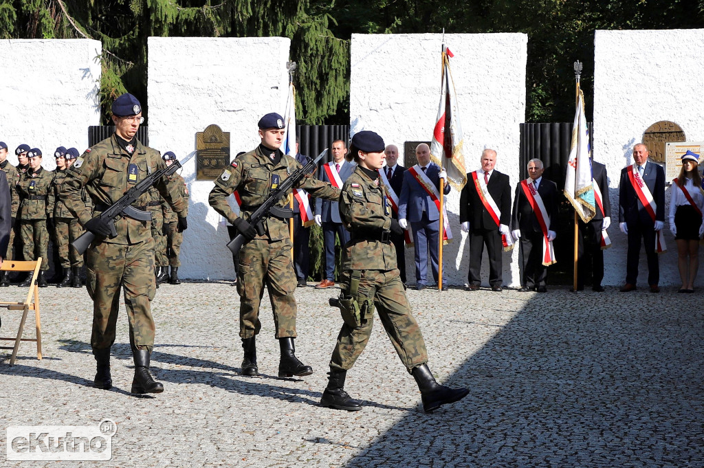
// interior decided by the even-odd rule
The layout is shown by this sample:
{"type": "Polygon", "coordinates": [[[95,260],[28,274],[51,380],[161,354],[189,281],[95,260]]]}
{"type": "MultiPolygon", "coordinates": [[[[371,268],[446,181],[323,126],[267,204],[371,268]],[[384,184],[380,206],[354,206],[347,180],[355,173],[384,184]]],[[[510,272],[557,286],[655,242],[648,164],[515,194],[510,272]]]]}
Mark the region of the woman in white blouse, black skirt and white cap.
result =
{"type": "Polygon", "coordinates": [[[704,194],[698,163],[697,153],[684,153],[679,177],[672,181],[670,190],[670,231],[677,241],[677,266],[682,280],[680,293],[694,292],[699,267],[699,239],[704,235],[704,194]]]}

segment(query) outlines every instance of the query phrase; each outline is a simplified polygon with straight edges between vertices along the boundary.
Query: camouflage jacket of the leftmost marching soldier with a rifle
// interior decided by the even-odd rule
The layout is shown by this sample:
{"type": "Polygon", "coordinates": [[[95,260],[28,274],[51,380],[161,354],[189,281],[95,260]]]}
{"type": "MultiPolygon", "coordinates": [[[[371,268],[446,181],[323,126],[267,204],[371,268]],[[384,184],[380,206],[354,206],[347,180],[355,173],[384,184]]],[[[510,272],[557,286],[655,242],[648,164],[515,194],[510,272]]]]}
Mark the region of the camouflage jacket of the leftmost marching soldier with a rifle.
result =
{"type": "MultiPolygon", "coordinates": [[[[85,225],[94,215],[99,215],[105,207],[118,201],[134,184],[149,175],[149,172],[163,167],[165,163],[155,149],[144,146],[137,140],[137,148],[130,156],[120,148],[113,134],[112,137],[88,148],[68,169],[65,181],[61,184],[61,198],[71,213],[85,225]],[[95,214],[81,198],[82,187],[85,187],[88,196],[95,203],[95,214]]],[[[156,183],[159,193],[172,203],[177,213],[184,213],[187,207],[183,198],[172,198],[171,194],[177,194],[174,185],[166,179],[156,183]]],[[[149,195],[142,194],[134,203],[134,207],[144,210],[148,202],[149,195]]],[[[113,239],[106,238],[105,242],[135,244],[151,238],[150,222],[118,216],[115,229],[118,235],[113,239]]]]}

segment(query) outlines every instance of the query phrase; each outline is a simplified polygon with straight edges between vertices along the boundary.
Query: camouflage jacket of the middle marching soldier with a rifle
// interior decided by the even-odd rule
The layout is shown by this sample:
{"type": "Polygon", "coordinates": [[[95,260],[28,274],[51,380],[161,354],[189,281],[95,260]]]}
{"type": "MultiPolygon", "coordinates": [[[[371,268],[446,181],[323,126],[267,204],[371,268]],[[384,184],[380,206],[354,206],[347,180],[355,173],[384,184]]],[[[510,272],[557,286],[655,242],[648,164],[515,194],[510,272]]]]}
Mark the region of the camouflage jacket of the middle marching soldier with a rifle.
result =
{"type": "MultiPolygon", "coordinates": [[[[247,219],[269,196],[275,177],[279,178],[279,182],[283,182],[284,179],[289,177],[289,174],[300,167],[301,164],[295,158],[285,154],[281,157],[279,163],[274,165],[272,160],[265,156],[260,151],[260,148],[257,147],[255,150],[244,153],[232,161],[230,167],[225,169],[218,179],[215,179],[215,186],[210,191],[208,203],[220,215],[226,217],[227,221],[234,224],[234,220],[237,220],[238,216],[227,204],[227,197],[237,190],[242,200],[241,215],[244,215],[245,219],[247,219]]],[[[340,193],[336,187],[327,182],[320,182],[320,180],[315,179],[310,174],[303,177],[301,182],[298,182],[296,189],[305,189],[315,197],[327,198],[328,200],[337,200],[340,193]]],[[[289,194],[291,194],[290,191],[289,194]]],[[[288,206],[287,201],[288,197],[284,197],[277,202],[277,206],[288,206]]],[[[255,239],[280,241],[289,237],[288,220],[269,217],[264,221],[264,224],[265,235],[256,236],[255,239]]]]}

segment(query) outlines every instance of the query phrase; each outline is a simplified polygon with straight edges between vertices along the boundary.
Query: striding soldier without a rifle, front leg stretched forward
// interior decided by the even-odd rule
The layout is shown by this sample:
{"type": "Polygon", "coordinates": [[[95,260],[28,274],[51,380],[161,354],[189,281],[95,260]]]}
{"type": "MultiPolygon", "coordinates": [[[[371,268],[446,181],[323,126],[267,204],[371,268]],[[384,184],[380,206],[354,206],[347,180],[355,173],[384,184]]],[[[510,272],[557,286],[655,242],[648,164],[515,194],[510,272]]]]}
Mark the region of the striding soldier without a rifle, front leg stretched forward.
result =
{"type": "Polygon", "coordinates": [[[372,333],[376,309],[398,357],[415,378],[423,410],[429,412],[469,393],[436,383],[427,367],[425,341],[410,311],[406,289],[396,266],[391,232],[403,234],[391,217],[384,183],[378,170],[384,164],[384,140],[375,132],[358,132],[350,146],[358,167],[348,177],[339,199],[343,224],[351,231],[342,265],[339,307],[344,324],[330,360],[330,377],[320,403],[325,407],[356,411],[362,406],[344,391],[347,370],[362,354],[372,333]]]}

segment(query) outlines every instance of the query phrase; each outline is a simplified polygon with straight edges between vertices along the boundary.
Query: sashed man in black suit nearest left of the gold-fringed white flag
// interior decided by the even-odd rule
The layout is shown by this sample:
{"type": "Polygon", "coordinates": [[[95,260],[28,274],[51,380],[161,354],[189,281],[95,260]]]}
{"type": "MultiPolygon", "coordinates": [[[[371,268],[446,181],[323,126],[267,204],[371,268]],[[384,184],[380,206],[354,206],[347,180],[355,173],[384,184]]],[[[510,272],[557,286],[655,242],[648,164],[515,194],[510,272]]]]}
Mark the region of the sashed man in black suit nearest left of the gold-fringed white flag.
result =
{"type": "Polygon", "coordinates": [[[543,262],[549,262],[546,262],[543,244],[546,236],[550,242],[555,239],[555,231],[551,229],[550,222],[556,219],[558,213],[558,187],[555,182],[543,177],[543,170],[541,160],[529,160],[529,178],[523,182],[527,182],[526,186],[534,186],[543,201],[548,218],[544,220],[547,232],[543,231],[539,216],[534,212],[522,182],[516,187],[516,195],[513,200],[512,234],[515,239],[520,239],[523,257],[523,284],[520,291],[532,291],[533,289],[539,293],[548,291],[546,288],[548,271],[543,262]]]}

